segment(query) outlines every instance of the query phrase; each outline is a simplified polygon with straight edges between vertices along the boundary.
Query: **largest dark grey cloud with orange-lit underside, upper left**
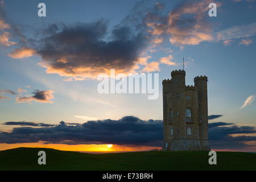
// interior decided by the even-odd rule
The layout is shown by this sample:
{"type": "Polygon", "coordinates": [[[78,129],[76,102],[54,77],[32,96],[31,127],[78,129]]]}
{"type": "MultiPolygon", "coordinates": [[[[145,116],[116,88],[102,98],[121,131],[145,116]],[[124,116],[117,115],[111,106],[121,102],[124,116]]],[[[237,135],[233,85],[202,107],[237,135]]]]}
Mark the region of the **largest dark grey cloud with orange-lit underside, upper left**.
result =
{"type": "Polygon", "coordinates": [[[14,49],[9,56],[23,58],[36,53],[42,57],[39,65],[46,68],[47,73],[74,80],[97,78],[111,68],[115,68],[116,73],[133,72],[147,42],[142,32],[135,33],[130,27],[116,26],[108,34],[105,20],[52,24],[43,35],[40,40],[33,40],[33,48],[14,49]]]}

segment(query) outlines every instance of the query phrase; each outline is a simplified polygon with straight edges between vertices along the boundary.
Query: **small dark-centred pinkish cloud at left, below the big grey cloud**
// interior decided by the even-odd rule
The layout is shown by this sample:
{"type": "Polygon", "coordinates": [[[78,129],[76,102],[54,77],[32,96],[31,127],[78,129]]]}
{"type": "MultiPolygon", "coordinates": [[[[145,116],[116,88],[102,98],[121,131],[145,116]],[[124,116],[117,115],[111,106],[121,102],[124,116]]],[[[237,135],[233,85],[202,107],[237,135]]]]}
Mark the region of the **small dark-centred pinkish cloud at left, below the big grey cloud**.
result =
{"type": "Polygon", "coordinates": [[[33,92],[34,96],[30,97],[16,97],[15,100],[17,103],[28,103],[31,104],[32,101],[35,102],[41,102],[41,103],[53,103],[52,99],[53,96],[53,90],[35,90],[33,92]]]}

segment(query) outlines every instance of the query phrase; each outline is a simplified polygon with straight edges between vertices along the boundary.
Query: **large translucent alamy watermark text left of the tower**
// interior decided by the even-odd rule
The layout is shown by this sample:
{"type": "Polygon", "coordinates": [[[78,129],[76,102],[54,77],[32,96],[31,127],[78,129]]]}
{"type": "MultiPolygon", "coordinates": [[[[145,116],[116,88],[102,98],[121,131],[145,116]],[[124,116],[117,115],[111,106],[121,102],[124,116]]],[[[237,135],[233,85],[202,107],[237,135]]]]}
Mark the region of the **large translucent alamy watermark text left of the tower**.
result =
{"type": "Polygon", "coordinates": [[[115,69],[110,69],[110,75],[100,73],[97,80],[101,81],[97,85],[100,94],[147,93],[148,100],[156,100],[159,97],[159,73],[129,73],[128,75],[118,73],[115,75],[115,69]]]}

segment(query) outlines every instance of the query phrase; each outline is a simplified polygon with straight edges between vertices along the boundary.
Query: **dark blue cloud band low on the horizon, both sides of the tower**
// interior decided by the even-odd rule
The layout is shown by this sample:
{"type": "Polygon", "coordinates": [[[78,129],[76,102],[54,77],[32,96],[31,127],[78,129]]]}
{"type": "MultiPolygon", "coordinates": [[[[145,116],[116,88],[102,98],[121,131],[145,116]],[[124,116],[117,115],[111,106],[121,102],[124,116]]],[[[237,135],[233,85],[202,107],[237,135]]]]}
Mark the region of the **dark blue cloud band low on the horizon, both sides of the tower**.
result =
{"type": "MultiPolygon", "coordinates": [[[[10,125],[10,122],[6,122],[10,125]]],[[[18,124],[15,122],[13,124],[18,124]]],[[[22,124],[19,123],[20,125],[22,124]]],[[[27,143],[44,141],[63,144],[133,144],[162,146],[163,121],[150,119],[143,121],[137,117],[126,116],[118,120],[105,119],[79,123],[65,123],[53,127],[16,127],[11,133],[0,133],[0,143],[27,143]],[[75,125],[75,126],[72,126],[75,125]]],[[[30,123],[28,123],[30,125],[30,123]]],[[[31,124],[31,126],[34,126],[31,124]]],[[[47,124],[46,124],[47,125],[47,124]]],[[[209,123],[209,142],[212,148],[242,148],[245,142],[256,137],[243,134],[256,133],[255,127],[236,126],[232,123],[209,123]],[[232,137],[232,134],[241,134],[232,137]]]]}

